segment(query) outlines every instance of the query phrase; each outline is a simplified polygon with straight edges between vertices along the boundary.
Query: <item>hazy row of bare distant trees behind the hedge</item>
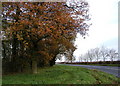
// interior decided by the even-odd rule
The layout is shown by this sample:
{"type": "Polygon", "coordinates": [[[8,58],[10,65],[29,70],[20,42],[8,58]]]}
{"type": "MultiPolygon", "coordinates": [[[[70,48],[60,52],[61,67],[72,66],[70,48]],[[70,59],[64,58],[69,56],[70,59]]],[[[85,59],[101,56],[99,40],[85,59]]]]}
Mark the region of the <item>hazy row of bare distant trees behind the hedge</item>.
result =
{"type": "Polygon", "coordinates": [[[118,52],[115,49],[108,49],[104,46],[88,50],[84,55],[79,56],[80,62],[93,61],[115,61],[118,60],[118,52]]]}

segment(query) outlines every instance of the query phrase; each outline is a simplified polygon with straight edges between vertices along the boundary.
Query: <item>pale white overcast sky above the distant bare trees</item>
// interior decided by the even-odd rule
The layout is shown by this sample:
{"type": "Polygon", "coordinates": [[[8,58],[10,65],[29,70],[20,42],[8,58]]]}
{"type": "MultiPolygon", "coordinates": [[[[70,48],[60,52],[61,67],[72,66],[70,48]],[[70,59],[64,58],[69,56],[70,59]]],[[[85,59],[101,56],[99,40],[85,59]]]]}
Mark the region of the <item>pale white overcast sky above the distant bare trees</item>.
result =
{"type": "Polygon", "coordinates": [[[118,2],[120,0],[87,0],[90,5],[91,23],[89,36],[80,35],[74,55],[78,58],[87,50],[104,45],[118,50],[118,2]]]}

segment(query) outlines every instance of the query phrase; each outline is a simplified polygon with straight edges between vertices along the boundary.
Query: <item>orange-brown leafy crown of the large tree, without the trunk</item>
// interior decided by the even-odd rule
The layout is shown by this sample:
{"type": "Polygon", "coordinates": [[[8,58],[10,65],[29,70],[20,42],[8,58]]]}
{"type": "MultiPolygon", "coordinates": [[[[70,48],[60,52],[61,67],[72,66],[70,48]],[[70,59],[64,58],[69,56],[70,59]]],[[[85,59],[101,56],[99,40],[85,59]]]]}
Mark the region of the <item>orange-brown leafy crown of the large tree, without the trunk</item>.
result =
{"type": "MultiPolygon", "coordinates": [[[[9,24],[11,36],[17,32],[16,38],[26,41],[23,44],[27,48],[50,59],[56,53],[64,53],[70,49],[74,51],[72,40],[75,39],[77,32],[87,30],[79,28],[80,23],[85,19],[71,17],[74,11],[64,6],[65,2],[4,2],[2,4],[4,18],[8,17],[9,22],[12,23],[9,24]]],[[[82,15],[82,12],[74,12],[74,15],[82,15]]],[[[5,27],[3,30],[6,31],[5,27]]]]}

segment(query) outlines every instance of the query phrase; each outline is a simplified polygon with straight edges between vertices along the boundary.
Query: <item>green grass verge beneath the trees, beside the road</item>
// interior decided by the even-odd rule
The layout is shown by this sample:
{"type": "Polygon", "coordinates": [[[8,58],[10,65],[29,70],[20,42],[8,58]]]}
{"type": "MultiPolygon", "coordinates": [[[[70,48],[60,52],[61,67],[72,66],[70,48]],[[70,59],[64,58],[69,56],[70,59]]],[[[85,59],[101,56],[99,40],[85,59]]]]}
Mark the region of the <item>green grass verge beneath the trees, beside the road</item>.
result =
{"type": "Polygon", "coordinates": [[[39,68],[38,74],[4,75],[2,84],[117,84],[113,75],[75,66],[39,68]]]}

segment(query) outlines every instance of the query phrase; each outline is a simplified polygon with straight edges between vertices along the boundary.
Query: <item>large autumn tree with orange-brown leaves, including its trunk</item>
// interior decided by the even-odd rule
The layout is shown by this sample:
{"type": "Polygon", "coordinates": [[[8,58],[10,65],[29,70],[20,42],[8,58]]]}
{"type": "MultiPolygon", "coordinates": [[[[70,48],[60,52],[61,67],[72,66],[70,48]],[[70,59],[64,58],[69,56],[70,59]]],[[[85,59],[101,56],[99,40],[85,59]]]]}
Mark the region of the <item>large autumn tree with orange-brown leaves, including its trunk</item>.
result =
{"type": "MultiPolygon", "coordinates": [[[[86,2],[81,3],[88,6],[86,2]]],[[[88,19],[87,11],[81,10],[86,7],[66,6],[63,2],[4,2],[2,5],[3,41],[11,41],[8,45],[11,46],[12,68],[18,68],[14,71],[26,63],[37,73],[39,62],[53,65],[60,53],[69,52],[72,56],[76,34],[84,36],[88,30],[89,25],[84,22],[88,19]]]]}

